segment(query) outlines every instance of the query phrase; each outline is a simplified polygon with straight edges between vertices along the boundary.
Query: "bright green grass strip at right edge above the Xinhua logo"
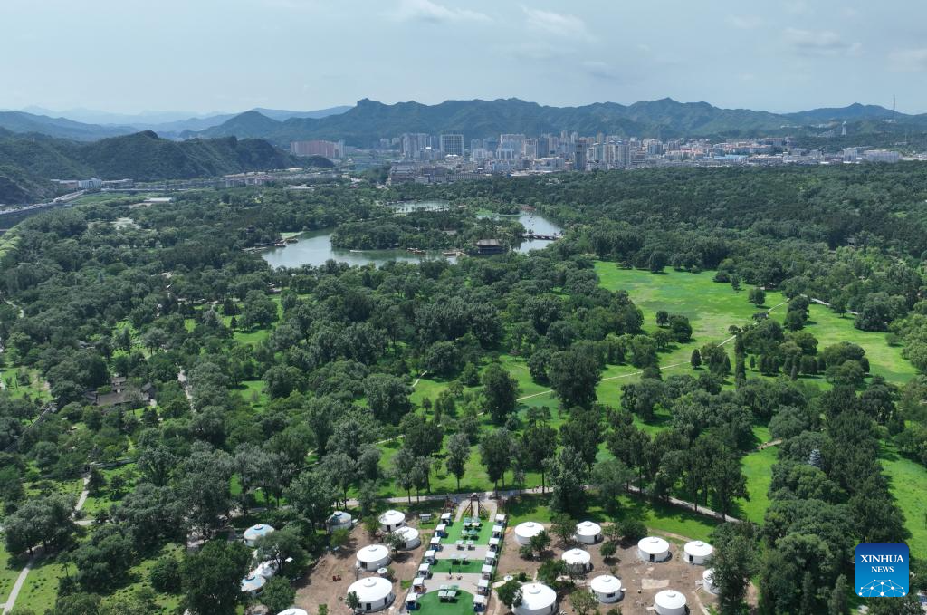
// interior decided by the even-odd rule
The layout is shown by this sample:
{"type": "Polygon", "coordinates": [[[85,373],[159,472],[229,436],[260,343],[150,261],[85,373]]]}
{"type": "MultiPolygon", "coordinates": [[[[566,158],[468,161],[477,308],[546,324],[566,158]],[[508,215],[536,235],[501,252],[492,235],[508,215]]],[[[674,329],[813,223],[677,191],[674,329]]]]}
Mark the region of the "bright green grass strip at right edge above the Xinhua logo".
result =
{"type": "Polygon", "coordinates": [[[880,455],[885,474],[892,481],[892,494],[905,513],[905,527],[911,532],[911,553],[927,553],[927,468],[898,455],[895,446],[886,442],[880,455]]]}

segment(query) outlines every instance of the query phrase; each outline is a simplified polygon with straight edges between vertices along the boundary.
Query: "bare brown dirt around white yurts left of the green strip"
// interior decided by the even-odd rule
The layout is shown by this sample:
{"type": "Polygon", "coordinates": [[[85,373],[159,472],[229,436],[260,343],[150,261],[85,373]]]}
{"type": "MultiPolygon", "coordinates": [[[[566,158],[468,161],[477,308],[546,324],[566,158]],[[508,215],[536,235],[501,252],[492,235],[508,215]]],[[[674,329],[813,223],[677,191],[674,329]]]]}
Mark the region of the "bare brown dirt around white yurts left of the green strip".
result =
{"type": "MultiPolygon", "coordinates": [[[[397,612],[402,606],[402,600],[408,590],[402,589],[401,582],[413,580],[415,571],[418,570],[418,565],[425,555],[424,546],[428,544],[434,533],[434,523],[428,527],[419,528],[418,519],[410,519],[409,525],[421,532],[422,545],[410,551],[393,553],[389,568],[394,571],[393,593],[396,594],[396,602],[393,603],[395,610],[387,609],[385,611],[387,613],[397,612]]],[[[374,545],[378,542],[379,539],[371,539],[361,526],[354,528],[350,533],[348,545],[339,549],[337,553],[326,553],[309,574],[296,584],[296,606],[306,609],[312,615],[319,611],[320,605],[328,605],[330,613],[347,612],[344,599],[348,594],[349,585],[357,579],[375,576],[375,572],[366,571],[355,576],[354,565],[357,562],[357,551],[366,545],[374,545]],[[340,580],[334,581],[336,577],[340,577],[340,580]]],[[[408,587],[410,583],[405,584],[408,587]]]]}

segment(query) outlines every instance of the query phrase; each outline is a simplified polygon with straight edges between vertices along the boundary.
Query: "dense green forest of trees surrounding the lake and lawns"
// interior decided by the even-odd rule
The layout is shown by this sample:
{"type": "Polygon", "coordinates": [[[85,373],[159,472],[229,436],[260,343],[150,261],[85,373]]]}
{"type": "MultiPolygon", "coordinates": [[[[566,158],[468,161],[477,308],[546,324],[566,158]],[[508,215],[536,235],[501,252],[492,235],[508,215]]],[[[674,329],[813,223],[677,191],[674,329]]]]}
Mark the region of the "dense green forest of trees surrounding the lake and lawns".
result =
{"type": "Polygon", "coordinates": [[[35,216],[0,263],[4,556],[21,568],[41,546],[30,575],[47,575],[14,612],[234,613],[253,600],[235,589],[249,556],[224,537],[258,506],[282,528],[259,549],[296,578],[330,546],[335,506],[375,519],[387,494],[504,485],[550,488],[552,515],[601,510],[626,538],[711,532],[722,613],[744,612],[751,580],[762,612],[848,613],[862,541],[909,540],[922,584],[921,519],[884,452],[924,476],[925,199],[927,172],[901,164],[263,186],[35,216]],[[321,228],[366,247],[403,245],[411,224],[509,224],[378,205],[425,198],[529,205],[567,232],[454,264],[272,270],[246,250],[321,228]],[[643,295],[606,285],[621,272],[699,276],[751,315],[712,334],[697,314],[645,315],[643,295]],[[845,339],[819,340],[824,309],[845,339]],[[883,378],[863,336],[912,373],[883,378]],[[90,523],[70,515],[82,479],[90,523]],[[671,497],[743,522],[680,522],[661,512],[671,497]]]}

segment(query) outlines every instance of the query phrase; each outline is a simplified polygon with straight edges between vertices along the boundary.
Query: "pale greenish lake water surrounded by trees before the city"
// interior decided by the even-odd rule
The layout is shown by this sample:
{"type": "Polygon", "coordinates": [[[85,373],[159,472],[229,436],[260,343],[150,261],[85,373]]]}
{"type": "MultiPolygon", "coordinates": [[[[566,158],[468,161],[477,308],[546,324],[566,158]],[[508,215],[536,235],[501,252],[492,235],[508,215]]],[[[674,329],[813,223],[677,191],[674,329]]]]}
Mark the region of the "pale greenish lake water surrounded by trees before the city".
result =
{"type": "MultiPolygon", "coordinates": [[[[398,212],[408,212],[414,210],[440,211],[448,208],[448,203],[444,201],[426,200],[416,201],[413,203],[400,203],[390,205],[398,212]]],[[[553,224],[550,220],[543,218],[537,213],[521,212],[511,216],[480,216],[493,218],[517,218],[527,231],[534,231],[537,235],[558,235],[561,227],[553,224]]],[[[297,236],[298,243],[287,244],[286,248],[273,248],[260,252],[261,258],[267,261],[272,267],[299,267],[304,264],[319,266],[328,260],[337,261],[338,263],[349,263],[351,265],[364,265],[375,263],[380,266],[390,261],[400,261],[408,263],[418,263],[425,258],[446,258],[448,261],[456,261],[456,257],[445,257],[441,250],[429,250],[426,254],[413,254],[406,250],[362,250],[351,251],[343,248],[332,246],[332,233],[335,229],[324,229],[302,233],[297,236]]],[[[519,252],[528,250],[540,250],[545,248],[551,242],[546,239],[531,239],[523,241],[516,249],[519,252]]]]}

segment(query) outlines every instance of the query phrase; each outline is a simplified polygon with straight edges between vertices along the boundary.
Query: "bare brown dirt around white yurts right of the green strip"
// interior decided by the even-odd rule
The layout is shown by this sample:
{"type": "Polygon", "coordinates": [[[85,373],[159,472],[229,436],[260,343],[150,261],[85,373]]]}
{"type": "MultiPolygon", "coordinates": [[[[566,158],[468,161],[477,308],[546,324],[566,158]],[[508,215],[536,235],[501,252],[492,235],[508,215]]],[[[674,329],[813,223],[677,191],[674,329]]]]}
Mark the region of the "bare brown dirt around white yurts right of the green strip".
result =
{"type": "MultiPolygon", "coordinates": [[[[579,548],[589,551],[592,557],[592,570],[585,578],[578,579],[578,587],[588,585],[590,579],[601,574],[614,574],[621,580],[621,586],[625,594],[621,600],[612,605],[600,605],[600,612],[605,613],[608,609],[620,608],[622,615],[652,615],[653,610],[648,610],[654,606],[654,596],[664,590],[673,589],[686,596],[687,605],[692,613],[707,614],[709,606],[717,607],[717,596],[705,592],[702,588],[702,573],[705,566],[692,566],[682,561],[682,545],[675,538],[669,540],[669,552],[671,557],[660,563],[644,563],[637,557],[637,545],[619,548],[615,557],[605,562],[599,548],[602,543],[596,545],[575,545],[579,548]]],[[[566,548],[572,548],[574,545],[568,545],[566,548]]],[[[514,534],[511,529],[506,533],[505,541],[502,546],[502,557],[500,557],[499,574],[496,582],[502,581],[505,575],[513,575],[517,578],[519,572],[527,573],[529,578],[534,578],[535,573],[540,565],[551,558],[559,559],[565,551],[565,545],[558,543],[553,539],[552,548],[541,559],[526,560],[518,555],[518,544],[514,540],[514,534]]],[[[756,598],[755,598],[756,599],[756,598]]],[[[500,607],[498,599],[494,600],[493,606],[500,607]]],[[[569,615],[576,615],[576,611],[570,606],[568,596],[561,596],[560,609],[569,615]]],[[[504,613],[506,609],[491,609],[493,612],[504,613]]]]}

